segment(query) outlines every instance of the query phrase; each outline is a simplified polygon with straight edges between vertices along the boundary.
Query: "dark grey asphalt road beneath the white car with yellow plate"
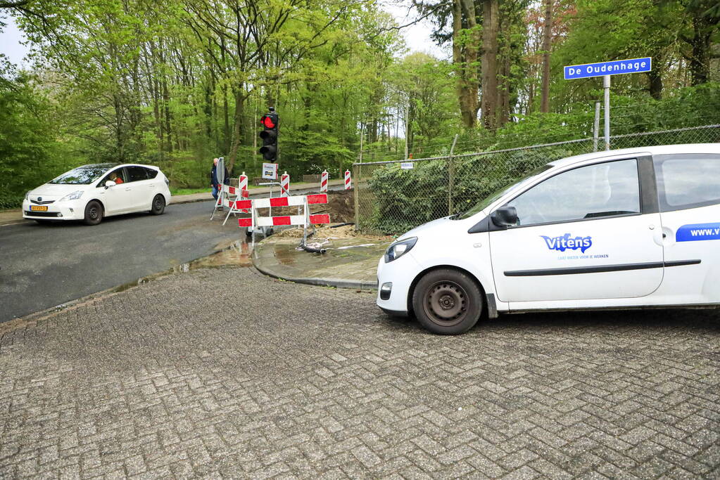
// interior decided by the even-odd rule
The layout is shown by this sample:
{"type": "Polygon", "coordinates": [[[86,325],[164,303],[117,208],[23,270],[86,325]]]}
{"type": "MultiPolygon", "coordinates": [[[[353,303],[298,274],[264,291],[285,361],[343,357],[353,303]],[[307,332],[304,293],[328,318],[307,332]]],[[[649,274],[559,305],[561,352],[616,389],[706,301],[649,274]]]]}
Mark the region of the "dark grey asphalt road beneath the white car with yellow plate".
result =
{"type": "Polygon", "coordinates": [[[237,223],[210,221],[212,202],[169,205],[82,223],[0,226],[0,322],[133,282],[244,238],[237,223]]]}

